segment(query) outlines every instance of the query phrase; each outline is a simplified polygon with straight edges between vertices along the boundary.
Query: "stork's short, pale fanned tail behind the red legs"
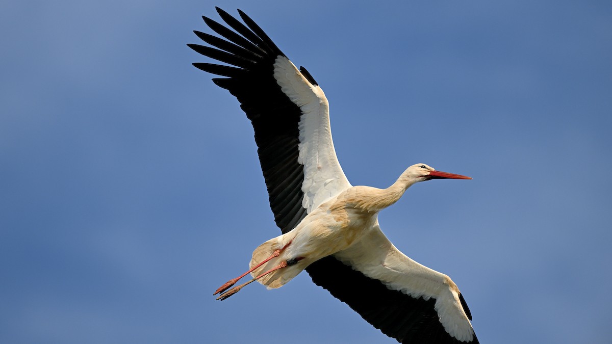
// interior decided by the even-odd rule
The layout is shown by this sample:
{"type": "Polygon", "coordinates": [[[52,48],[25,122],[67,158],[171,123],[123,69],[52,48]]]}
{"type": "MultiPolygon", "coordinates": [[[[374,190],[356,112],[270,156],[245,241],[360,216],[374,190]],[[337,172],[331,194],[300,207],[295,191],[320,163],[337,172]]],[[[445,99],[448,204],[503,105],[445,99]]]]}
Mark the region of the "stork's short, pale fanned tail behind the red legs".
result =
{"type": "MultiPolygon", "coordinates": [[[[274,239],[270,239],[269,241],[266,241],[263,244],[259,245],[259,247],[257,247],[255,251],[253,251],[253,258],[251,259],[249,267],[256,266],[257,264],[261,263],[261,261],[264,261],[266,258],[271,256],[275,250],[282,249],[283,245],[280,244],[280,242],[282,242],[282,236],[277,236],[274,239]]],[[[253,270],[251,272],[253,278],[263,274],[266,271],[269,271],[275,266],[278,266],[278,264],[282,263],[283,261],[295,258],[286,256],[285,252],[286,251],[281,252],[279,256],[272,258],[262,266],[259,266],[258,268],[253,270]]],[[[267,286],[268,289],[280,288],[281,286],[289,282],[291,279],[293,279],[293,277],[296,277],[297,274],[302,272],[302,270],[304,270],[304,268],[308,266],[308,264],[304,264],[304,261],[305,260],[301,260],[297,264],[283,267],[282,269],[270,272],[264,277],[261,277],[261,279],[258,279],[257,282],[267,286]]]]}

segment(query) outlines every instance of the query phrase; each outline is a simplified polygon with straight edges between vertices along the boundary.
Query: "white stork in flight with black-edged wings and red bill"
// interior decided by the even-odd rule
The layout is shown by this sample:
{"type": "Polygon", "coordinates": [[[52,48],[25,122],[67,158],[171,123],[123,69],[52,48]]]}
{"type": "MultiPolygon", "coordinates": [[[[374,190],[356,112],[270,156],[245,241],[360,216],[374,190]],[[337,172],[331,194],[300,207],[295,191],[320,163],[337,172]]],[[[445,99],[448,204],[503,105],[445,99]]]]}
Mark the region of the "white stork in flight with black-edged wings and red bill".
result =
{"type": "Polygon", "coordinates": [[[270,206],[283,233],[253,252],[250,270],[218,288],[218,299],[254,280],[279,288],[305,269],[313,282],[398,342],[478,343],[457,285],[401,253],[378,225],[378,212],[412,184],[471,178],[417,163],[387,189],[352,186],[334,151],[327,99],[310,73],[298,70],[241,10],[246,25],[217,12],[235,32],[203,17],[225,39],[195,31],[218,49],[188,46],[229,65],[193,65],[222,76],[212,81],[236,96],[252,122],[270,206]],[[228,290],[249,273],[252,280],[228,290]]]}

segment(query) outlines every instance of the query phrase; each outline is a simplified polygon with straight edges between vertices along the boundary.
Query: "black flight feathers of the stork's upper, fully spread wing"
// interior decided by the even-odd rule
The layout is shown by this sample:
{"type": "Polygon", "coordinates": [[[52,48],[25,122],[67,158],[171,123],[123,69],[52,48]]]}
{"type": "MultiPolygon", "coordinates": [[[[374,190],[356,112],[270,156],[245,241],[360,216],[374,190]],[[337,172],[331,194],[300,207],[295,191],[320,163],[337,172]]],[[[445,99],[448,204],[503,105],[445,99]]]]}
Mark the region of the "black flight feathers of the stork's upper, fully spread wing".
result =
{"type": "Polygon", "coordinates": [[[226,40],[196,32],[200,39],[218,49],[195,44],[188,46],[204,56],[236,66],[194,64],[198,69],[227,77],[213,81],[238,99],[251,120],[274,220],[286,233],[305,217],[306,209],[302,207],[304,166],[297,162],[297,125],[302,111],[281,91],[273,75],[275,60],[279,55],[285,55],[244,13],[241,17],[248,28],[225,11],[217,9],[217,12],[238,33],[202,17],[226,40]]]}

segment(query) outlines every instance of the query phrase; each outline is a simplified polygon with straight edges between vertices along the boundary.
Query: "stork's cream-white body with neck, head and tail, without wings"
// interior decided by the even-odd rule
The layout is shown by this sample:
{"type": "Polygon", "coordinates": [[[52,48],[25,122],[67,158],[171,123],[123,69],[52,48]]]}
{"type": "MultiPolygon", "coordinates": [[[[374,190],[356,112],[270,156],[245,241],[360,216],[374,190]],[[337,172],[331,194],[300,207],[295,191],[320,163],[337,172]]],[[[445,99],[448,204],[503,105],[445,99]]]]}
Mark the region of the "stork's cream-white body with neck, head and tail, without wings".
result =
{"type": "Polygon", "coordinates": [[[397,202],[412,184],[419,181],[421,177],[411,176],[413,170],[424,170],[419,166],[433,170],[430,166],[417,163],[387,189],[352,186],[325,201],[308,213],[296,228],[260,245],[253,252],[250,267],[261,263],[274,250],[283,247],[286,249],[282,250],[280,256],[253,270],[251,275],[257,277],[277,265],[277,261],[302,258],[286,269],[279,269],[258,279],[259,283],[268,288],[278,288],[311,263],[346,250],[372,231],[379,231],[378,212],[397,202]]]}

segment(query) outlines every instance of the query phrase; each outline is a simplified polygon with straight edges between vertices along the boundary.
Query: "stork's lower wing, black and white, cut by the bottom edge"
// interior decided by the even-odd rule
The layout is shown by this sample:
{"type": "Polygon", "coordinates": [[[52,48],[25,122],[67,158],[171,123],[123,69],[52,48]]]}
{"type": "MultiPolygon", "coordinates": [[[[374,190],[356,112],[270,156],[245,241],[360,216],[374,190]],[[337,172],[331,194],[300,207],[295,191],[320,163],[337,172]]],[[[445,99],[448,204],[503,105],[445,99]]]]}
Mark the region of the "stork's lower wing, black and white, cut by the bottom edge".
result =
{"type": "Polygon", "coordinates": [[[319,272],[311,273],[315,283],[398,342],[478,343],[457,285],[401,253],[378,225],[349,249],[311,267],[319,272]]]}

